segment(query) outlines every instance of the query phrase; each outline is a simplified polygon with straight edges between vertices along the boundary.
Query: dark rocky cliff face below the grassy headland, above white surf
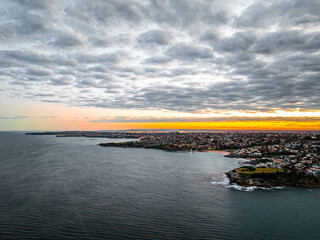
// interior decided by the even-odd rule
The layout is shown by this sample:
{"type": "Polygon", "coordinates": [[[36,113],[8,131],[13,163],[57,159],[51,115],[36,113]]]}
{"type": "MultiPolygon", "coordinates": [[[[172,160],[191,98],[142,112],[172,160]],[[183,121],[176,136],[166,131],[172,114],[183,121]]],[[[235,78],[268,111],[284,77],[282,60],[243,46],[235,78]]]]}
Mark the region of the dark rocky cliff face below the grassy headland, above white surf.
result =
{"type": "Polygon", "coordinates": [[[230,183],[249,187],[320,187],[320,179],[314,176],[300,176],[293,173],[241,174],[234,170],[226,173],[230,183]]]}

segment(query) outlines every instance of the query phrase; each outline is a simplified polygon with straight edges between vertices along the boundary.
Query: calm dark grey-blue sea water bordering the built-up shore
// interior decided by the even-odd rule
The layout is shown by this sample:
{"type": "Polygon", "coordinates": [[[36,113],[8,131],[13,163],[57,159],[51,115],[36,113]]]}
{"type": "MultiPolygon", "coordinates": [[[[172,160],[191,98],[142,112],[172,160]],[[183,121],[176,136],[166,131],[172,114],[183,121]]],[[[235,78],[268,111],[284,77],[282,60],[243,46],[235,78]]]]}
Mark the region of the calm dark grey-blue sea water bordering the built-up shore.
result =
{"type": "MultiPolygon", "coordinates": [[[[0,133],[0,239],[318,239],[320,190],[228,188],[220,153],[0,133]]],[[[117,140],[123,141],[123,140],[117,140]]]]}

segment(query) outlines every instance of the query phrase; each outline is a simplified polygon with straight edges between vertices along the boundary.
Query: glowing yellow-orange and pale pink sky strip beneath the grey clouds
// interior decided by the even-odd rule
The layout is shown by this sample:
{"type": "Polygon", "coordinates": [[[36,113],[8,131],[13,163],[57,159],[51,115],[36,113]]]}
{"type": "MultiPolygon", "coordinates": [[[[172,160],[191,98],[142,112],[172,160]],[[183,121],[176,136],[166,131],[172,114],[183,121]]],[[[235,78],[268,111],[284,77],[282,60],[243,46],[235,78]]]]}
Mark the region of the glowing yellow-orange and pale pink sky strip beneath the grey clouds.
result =
{"type": "MultiPolygon", "coordinates": [[[[225,129],[320,130],[319,110],[274,111],[210,110],[186,113],[156,110],[116,110],[68,107],[63,104],[2,99],[0,130],[123,130],[123,129],[225,129]],[[5,101],[6,100],[6,101],[5,101]],[[5,103],[19,108],[19,115],[5,103]]],[[[1,106],[1,103],[0,103],[1,106]]]]}

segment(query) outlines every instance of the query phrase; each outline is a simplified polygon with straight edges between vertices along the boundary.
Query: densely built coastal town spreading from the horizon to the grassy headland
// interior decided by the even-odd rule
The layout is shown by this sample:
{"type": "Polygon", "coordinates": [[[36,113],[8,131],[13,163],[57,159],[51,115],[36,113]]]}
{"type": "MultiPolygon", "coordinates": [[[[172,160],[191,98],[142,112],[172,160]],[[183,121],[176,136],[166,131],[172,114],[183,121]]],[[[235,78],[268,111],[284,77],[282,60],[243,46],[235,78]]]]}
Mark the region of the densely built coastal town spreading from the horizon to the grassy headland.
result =
{"type": "Polygon", "coordinates": [[[103,147],[225,151],[229,153],[225,157],[247,159],[237,170],[242,176],[247,176],[243,173],[285,172],[320,179],[319,132],[73,131],[28,134],[130,139],[126,142],[100,143],[103,147]],[[259,171],[255,172],[256,169],[259,171]]]}

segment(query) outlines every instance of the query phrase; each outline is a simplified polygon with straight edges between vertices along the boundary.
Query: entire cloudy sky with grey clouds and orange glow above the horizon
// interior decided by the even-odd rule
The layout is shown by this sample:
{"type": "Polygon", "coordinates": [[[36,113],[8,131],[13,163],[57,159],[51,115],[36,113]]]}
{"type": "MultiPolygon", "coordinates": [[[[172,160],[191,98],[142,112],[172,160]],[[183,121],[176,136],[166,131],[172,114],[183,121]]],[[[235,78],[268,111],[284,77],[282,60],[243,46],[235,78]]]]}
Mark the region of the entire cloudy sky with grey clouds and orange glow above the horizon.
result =
{"type": "Polygon", "coordinates": [[[0,131],[320,130],[318,0],[2,0],[0,131]]]}

